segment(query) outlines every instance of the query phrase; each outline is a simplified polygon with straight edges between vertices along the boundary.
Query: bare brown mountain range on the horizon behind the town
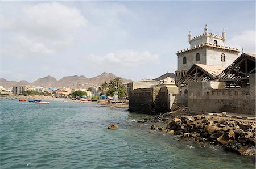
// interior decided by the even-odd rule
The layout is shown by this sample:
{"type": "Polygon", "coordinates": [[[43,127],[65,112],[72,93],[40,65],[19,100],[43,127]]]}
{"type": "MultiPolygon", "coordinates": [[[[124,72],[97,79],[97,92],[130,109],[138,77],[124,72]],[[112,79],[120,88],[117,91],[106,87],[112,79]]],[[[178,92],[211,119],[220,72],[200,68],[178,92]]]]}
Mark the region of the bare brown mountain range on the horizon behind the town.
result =
{"type": "MultiPolygon", "coordinates": [[[[110,80],[116,78],[113,73],[102,73],[101,75],[98,75],[96,77],[92,78],[86,78],[84,75],[73,75],[73,76],[67,76],[61,78],[59,81],[57,81],[56,78],[51,77],[48,75],[47,77],[39,78],[36,81],[29,83],[27,81],[7,81],[4,78],[0,79],[0,86],[3,86],[4,88],[11,88],[15,85],[20,86],[43,86],[45,88],[48,87],[69,87],[69,88],[88,88],[88,87],[97,87],[100,86],[100,84],[106,82],[109,82],[110,80]]],[[[120,77],[121,78],[121,77],[120,77]]],[[[132,80],[121,78],[121,81],[123,83],[129,83],[133,82],[132,80]]]]}

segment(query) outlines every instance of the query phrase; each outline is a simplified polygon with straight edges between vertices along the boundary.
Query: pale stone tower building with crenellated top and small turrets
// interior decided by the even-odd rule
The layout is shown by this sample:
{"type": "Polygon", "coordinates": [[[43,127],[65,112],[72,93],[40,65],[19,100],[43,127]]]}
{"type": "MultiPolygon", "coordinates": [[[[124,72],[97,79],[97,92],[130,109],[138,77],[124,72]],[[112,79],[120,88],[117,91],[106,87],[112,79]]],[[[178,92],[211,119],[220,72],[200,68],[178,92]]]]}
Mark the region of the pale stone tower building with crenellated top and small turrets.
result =
{"type": "Polygon", "coordinates": [[[178,69],[175,71],[176,82],[181,79],[185,73],[194,64],[204,64],[213,66],[228,67],[236,58],[240,51],[237,48],[226,47],[225,29],[221,35],[216,35],[208,32],[208,27],[205,26],[204,33],[192,37],[192,33],[188,34],[190,48],[177,51],[178,69]]]}

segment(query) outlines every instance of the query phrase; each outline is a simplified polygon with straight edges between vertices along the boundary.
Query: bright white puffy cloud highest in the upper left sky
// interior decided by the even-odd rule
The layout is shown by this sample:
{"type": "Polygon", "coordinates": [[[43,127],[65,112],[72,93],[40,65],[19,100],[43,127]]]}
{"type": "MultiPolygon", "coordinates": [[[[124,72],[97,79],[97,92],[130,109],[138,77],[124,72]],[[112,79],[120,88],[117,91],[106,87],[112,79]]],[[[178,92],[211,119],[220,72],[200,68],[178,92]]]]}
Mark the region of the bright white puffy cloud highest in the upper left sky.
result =
{"type": "Polygon", "coordinates": [[[30,23],[47,31],[67,31],[87,24],[79,10],[57,2],[24,6],[22,12],[30,23]]]}

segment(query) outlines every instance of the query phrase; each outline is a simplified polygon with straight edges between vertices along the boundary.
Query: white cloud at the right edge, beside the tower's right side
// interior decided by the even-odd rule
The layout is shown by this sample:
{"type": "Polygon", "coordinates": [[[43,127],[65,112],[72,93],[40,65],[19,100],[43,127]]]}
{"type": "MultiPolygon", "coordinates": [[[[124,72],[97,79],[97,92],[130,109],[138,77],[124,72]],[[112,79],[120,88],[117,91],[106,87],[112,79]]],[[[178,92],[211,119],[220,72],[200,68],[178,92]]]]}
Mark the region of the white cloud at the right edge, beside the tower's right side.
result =
{"type": "Polygon", "coordinates": [[[245,53],[255,53],[255,30],[243,31],[240,35],[234,35],[232,39],[227,40],[226,44],[230,47],[237,47],[245,53]]]}

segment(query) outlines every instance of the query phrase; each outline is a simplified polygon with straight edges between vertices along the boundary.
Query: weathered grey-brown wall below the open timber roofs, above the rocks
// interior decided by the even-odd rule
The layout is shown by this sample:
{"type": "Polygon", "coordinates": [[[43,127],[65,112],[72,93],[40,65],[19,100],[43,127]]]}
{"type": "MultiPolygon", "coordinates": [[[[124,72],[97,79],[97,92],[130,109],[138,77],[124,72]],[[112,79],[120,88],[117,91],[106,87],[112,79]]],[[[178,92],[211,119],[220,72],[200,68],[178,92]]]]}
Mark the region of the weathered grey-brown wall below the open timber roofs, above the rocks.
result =
{"type": "MultiPolygon", "coordinates": [[[[198,112],[255,114],[255,74],[250,75],[250,87],[246,88],[213,89],[210,83],[189,83],[189,109],[198,112]]],[[[223,86],[223,82],[219,83],[223,86]]]]}

